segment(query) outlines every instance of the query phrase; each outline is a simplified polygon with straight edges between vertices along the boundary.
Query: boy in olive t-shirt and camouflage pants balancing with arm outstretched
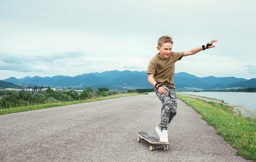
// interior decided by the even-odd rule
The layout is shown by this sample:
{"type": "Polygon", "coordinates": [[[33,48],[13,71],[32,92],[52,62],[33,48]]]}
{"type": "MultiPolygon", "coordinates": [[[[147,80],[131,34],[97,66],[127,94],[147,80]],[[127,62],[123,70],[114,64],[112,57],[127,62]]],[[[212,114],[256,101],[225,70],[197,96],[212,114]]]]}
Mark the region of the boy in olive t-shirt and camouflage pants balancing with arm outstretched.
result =
{"type": "Polygon", "coordinates": [[[157,97],[163,103],[161,123],[156,126],[160,142],[168,143],[167,127],[177,112],[177,98],[173,82],[175,62],[183,56],[193,55],[201,50],[215,47],[212,45],[214,42],[217,42],[217,40],[211,40],[207,45],[202,45],[202,47],[189,51],[172,52],[173,41],[171,36],[161,36],[158,39],[156,48],[160,53],[151,59],[147,68],[147,74],[148,82],[153,85],[157,97]]]}

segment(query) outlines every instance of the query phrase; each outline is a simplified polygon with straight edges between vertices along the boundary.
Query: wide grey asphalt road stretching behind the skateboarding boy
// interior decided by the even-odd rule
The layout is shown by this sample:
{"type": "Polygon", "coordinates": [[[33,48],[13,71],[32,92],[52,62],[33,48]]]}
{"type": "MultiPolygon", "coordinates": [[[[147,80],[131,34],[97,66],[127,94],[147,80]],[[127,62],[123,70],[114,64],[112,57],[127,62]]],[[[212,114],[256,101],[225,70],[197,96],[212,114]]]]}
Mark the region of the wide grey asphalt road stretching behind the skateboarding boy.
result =
{"type": "Polygon", "coordinates": [[[247,162],[178,100],[168,151],[149,151],[137,131],[157,135],[156,94],[0,115],[0,162],[247,162]]]}

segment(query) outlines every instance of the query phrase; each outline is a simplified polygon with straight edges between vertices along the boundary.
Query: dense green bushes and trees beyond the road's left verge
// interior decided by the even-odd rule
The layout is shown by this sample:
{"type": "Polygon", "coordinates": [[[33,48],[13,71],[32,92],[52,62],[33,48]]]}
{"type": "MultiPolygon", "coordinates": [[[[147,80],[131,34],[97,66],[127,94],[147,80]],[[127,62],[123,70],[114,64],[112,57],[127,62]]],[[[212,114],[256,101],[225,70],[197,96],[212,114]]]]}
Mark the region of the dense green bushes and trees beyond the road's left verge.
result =
{"type": "Polygon", "coordinates": [[[97,99],[100,97],[121,93],[118,91],[109,91],[107,88],[103,87],[99,89],[100,90],[94,90],[87,87],[80,94],[78,94],[78,92],[75,90],[57,92],[51,89],[49,86],[47,87],[47,90],[43,90],[42,92],[35,94],[31,94],[31,92],[24,90],[2,90],[0,91],[2,96],[0,99],[0,109],[97,99]]]}

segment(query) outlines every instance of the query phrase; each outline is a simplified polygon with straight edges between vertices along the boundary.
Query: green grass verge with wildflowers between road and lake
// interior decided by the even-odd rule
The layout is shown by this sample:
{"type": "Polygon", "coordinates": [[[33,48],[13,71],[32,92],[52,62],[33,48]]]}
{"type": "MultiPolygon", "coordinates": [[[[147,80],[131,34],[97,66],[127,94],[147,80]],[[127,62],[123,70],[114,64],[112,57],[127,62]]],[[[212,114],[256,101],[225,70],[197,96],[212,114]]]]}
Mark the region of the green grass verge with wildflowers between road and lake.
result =
{"type": "Polygon", "coordinates": [[[226,105],[207,102],[177,94],[188,106],[202,115],[209,126],[217,130],[232,147],[237,148],[236,155],[256,162],[256,120],[242,117],[232,112],[226,105]]]}

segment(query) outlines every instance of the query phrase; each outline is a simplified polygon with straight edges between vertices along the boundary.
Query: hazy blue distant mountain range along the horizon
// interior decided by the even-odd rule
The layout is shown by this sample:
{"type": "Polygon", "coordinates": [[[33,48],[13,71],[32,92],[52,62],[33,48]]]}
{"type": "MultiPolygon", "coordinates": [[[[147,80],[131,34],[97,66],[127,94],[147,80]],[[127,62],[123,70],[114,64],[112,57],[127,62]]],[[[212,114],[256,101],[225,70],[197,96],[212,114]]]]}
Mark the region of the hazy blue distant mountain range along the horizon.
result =
{"type": "MultiPolygon", "coordinates": [[[[91,88],[108,87],[110,90],[128,90],[138,88],[152,88],[152,85],[147,81],[146,72],[137,71],[107,71],[85,73],[78,76],[26,76],[21,79],[10,77],[0,82],[2,87],[3,82],[15,83],[19,85],[41,85],[51,87],[72,87],[72,88],[91,88]]],[[[177,90],[196,90],[196,89],[223,89],[234,87],[256,87],[256,78],[247,80],[236,77],[197,77],[185,72],[175,73],[174,82],[177,90]]],[[[5,83],[6,84],[6,83],[5,83]]]]}

